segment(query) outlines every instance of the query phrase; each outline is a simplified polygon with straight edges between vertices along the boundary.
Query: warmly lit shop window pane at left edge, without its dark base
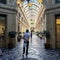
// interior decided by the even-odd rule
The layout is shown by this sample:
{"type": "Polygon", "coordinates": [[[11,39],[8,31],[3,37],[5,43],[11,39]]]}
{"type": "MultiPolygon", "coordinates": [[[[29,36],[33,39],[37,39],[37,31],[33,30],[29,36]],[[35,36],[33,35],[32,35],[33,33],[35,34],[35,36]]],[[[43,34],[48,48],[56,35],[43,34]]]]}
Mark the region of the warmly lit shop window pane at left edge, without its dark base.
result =
{"type": "Polygon", "coordinates": [[[6,15],[0,15],[0,37],[5,36],[6,32],[6,15]]]}

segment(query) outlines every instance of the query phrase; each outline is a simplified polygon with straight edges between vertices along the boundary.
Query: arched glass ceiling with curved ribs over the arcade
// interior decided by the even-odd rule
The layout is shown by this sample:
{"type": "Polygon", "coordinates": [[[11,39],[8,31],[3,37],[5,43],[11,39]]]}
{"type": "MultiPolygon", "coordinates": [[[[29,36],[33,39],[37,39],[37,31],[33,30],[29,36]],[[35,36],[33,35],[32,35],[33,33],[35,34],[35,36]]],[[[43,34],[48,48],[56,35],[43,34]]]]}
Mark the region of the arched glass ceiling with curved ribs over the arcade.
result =
{"type": "Polygon", "coordinates": [[[23,2],[22,10],[25,14],[26,19],[29,22],[30,20],[34,20],[34,22],[37,20],[41,9],[41,5],[42,4],[39,3],[38,0],[30,0],[29,4],[26,0],[23,2]]]}

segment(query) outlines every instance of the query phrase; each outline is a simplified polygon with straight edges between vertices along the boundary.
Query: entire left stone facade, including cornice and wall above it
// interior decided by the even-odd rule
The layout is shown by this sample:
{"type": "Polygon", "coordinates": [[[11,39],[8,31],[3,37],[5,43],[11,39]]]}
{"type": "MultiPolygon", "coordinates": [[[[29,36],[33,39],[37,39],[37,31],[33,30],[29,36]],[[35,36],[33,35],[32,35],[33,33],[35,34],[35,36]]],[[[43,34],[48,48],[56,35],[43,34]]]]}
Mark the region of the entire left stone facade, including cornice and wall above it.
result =
{"type": "MultiPolygon", "coordinates": [[[[16,10],[16,0],[7,0],[7,4],[0,4],[0,14],[5,14],[7,16],[6,19],[6,40],[0,41],[0,47],[7,47],[8,42],[10,41],[8,37],[9,31],[18,32],[18,24],[17,24],[17,10],[16,10]]],[[[16,45],[17,37],[12,41],[14,46],[16,45]]]]}

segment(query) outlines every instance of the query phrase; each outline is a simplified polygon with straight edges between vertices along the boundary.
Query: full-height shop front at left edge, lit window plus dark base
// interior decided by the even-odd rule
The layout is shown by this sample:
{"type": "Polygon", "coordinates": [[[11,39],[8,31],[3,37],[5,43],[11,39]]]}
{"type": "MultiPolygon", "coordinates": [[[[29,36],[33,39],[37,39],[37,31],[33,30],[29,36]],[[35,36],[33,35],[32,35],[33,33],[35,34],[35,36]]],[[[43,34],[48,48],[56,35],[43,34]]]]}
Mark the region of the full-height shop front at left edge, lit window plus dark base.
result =
{"type": "Polygon", "coordinates": [[[4,47],[6,37],[6,15],[0,14],[0,47],[4,47]]]}

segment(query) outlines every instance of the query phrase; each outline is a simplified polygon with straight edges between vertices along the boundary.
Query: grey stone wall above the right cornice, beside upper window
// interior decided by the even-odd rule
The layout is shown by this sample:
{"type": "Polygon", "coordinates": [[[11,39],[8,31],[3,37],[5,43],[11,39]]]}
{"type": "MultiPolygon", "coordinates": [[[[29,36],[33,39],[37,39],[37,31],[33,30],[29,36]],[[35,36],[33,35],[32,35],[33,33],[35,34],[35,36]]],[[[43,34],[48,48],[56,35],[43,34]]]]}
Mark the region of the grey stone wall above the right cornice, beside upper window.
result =
{"type": "Polygon", "coordinates": [[[60,7],[60,3],[55,3],[55,0],[43,0],[43,5],[46,9],[52,9],[60,7]]]}

